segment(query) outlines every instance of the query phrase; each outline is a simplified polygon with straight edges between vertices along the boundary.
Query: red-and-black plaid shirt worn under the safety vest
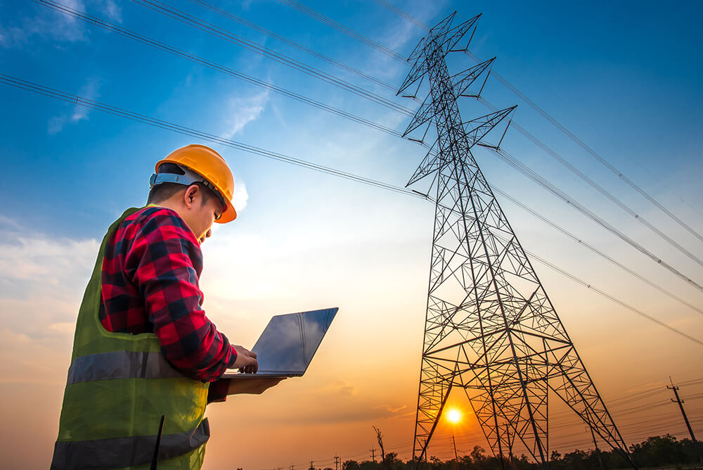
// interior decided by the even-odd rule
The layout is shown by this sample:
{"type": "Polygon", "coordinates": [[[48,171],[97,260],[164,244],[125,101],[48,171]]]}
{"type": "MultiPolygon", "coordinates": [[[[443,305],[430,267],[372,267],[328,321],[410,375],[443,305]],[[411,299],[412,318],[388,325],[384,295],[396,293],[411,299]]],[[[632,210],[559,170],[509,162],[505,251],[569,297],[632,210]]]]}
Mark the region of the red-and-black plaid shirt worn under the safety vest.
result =
{"type": "Polygon", "coordinates": [[[105,248],[99,317],[108,331],[154,333],[175,369],[210,384],[208,402],[226,398],[237,352],[202,310],[200,243],[173,210],[129,215],[105,248]]]}

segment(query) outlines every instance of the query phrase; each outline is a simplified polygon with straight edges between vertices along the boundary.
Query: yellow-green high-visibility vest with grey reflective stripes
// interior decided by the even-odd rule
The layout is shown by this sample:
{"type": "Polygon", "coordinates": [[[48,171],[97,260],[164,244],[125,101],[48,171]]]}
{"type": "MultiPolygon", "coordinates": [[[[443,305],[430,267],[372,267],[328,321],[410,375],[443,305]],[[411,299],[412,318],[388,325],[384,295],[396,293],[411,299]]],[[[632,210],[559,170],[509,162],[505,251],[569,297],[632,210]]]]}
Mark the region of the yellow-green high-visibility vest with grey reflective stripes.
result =
{"type": "Polygon", "coordinates": [[[165,359],[155,334],[112,333],[98,317],[105,246],[131,208],[105,234],[78,312],[73,355],[51,469],[149,469],[160,418],[158,469],[200,469],[209,438],[209,383],[165,359]]]}

